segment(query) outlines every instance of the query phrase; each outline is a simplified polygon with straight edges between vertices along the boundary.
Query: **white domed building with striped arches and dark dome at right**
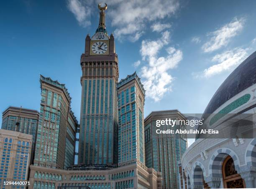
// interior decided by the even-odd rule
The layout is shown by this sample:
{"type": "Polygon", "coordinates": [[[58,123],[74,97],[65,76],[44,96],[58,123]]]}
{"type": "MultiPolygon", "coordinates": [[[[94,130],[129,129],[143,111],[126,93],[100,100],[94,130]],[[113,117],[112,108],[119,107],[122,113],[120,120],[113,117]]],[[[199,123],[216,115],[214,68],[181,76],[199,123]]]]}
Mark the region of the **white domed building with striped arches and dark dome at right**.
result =
{"type": "Polygon", "coordinates": [[[189,146],[181,161],[187,189],[256,187],[255,91],[256,52],[226,78],[202,116],[209,129],[238,131],[237,121],[244,116],[250,118],[249,126],[233,137],[199,137],[189,146]]]}

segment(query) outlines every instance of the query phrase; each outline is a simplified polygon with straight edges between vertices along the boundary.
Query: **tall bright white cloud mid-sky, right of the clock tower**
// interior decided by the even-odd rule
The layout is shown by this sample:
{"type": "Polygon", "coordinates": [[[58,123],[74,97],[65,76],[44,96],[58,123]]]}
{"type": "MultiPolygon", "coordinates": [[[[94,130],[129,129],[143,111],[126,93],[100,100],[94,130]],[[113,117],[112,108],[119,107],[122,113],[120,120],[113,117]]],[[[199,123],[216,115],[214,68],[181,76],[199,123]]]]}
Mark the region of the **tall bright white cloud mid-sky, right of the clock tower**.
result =
{"type": "Polygon", "coordinates": [[[159,51],[169,44],[170,33],[162,33],[158,40],[143,40],[141,43],[141,56],[148,62],[141,68],[141,76],[146,89],[146,96],[159,101],[164,93],[171,91],[170,84],[173,77],[168,73],[170,69],[177,67],[182,60],[182,51],[173,47],[166,48],[167,55],[158,57],[159,51]]]}

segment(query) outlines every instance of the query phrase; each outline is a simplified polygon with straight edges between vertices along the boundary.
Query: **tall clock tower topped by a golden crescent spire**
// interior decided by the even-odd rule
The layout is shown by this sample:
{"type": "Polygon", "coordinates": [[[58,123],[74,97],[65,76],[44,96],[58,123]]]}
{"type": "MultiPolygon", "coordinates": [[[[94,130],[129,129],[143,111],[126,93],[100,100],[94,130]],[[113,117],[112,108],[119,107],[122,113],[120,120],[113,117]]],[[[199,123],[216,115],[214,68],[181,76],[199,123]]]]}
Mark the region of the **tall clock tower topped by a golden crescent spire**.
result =
{"type": "Polygon", "coordinates": [[[85,39],[81,55],[82,100],[79,131],[79,165],[117,164],[117,89],[118,55],[115,40],[105,26],[107,4],[100,9],[95,34],[85,39]]]}

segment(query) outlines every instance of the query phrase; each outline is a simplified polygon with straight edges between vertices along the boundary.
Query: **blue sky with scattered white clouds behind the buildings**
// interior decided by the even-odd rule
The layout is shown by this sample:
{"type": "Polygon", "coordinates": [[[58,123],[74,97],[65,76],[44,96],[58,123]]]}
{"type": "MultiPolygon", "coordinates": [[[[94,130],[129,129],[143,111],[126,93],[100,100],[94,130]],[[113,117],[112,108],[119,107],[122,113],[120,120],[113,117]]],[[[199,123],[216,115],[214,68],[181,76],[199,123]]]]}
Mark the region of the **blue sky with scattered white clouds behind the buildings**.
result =
{"type": "MultiPolygon", "coordinates": [[[[39,110],[39,74],[65,83],[79,119],[80,55],[99,1],[1,1],[0,110],[39,110]]],[[[137,71],[145,116],[203,113],[225,78],[256,49],[256,1],[106,0],[120,79],[137,71]]],[[[0,123],[2,118],[0,118],[0,123]]]]}

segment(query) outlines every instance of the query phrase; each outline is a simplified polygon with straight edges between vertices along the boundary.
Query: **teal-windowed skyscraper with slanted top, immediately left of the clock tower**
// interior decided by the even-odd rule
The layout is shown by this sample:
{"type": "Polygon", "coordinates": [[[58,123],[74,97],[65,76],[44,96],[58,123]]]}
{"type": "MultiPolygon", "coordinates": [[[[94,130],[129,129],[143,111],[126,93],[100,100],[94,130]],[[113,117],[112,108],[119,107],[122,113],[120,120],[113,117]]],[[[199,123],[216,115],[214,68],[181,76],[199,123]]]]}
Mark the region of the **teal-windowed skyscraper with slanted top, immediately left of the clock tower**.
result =
{"type": "Polygon", "coordinates": [[[41,106],[34,165],[61,168],[74,163],[76,118],[64,84],[40,77],[41,106]]]}

